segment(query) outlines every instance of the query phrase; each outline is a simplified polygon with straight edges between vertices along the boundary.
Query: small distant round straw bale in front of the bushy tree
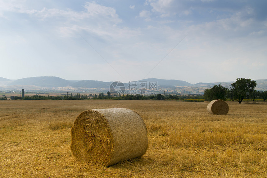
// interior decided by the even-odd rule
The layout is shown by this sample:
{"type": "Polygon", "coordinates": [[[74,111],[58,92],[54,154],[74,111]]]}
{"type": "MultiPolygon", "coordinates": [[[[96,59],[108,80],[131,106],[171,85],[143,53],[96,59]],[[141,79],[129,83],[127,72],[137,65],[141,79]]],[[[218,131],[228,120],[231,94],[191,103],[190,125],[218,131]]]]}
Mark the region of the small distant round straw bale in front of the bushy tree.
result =
{"type": "Polygon", "coordinates": [[[229,106],[225,101],[215,99],[208,104],[207,109],[211,114],[227,114],[229,111],[229,106]]]}

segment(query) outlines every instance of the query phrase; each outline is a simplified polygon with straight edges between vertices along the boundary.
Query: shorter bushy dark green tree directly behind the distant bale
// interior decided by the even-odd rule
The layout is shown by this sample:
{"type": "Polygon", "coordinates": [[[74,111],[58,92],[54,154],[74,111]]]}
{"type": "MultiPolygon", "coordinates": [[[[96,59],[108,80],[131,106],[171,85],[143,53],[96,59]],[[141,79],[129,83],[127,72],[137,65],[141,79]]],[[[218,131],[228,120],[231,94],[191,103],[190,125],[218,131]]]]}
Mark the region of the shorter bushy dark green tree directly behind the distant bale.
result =
{"type": "Polygon", "coordinates": [[[204,90],[203,98],[206,101],[212,101],[214,99],[226,100],[226,91],[227,88],[223,87],[222,84],[214,85],[210,89],[204,90]]]}

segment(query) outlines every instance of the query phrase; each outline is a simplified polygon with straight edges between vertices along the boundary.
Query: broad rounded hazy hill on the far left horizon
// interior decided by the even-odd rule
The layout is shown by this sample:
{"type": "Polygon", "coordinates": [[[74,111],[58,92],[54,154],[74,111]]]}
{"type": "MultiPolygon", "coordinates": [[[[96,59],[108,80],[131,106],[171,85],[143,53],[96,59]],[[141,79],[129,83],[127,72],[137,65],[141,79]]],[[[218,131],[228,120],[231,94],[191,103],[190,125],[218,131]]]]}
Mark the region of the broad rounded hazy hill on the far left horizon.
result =
{"type": "Polygon", "coordinates": [[[59,77],[29,77],[18,79],[11,82],[9,85],[35,85],[41,87],[65,87],[72,82],[70,80],[61,79],[59,77]]]}

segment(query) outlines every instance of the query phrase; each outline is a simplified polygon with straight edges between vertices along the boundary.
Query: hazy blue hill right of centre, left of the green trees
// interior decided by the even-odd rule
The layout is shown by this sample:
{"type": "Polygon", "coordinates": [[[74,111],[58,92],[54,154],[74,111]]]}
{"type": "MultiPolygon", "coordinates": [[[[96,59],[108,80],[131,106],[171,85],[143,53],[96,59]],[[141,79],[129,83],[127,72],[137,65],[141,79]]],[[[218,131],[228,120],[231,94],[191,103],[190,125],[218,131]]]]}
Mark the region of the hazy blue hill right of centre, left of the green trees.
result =
{"type": "Polygon", "coordinates": [[[193,86],[193,84],[190,84],[183,80],[166,80],[166,79],[156,79],[156,78],[149,78],[149,79],[143,79],[138,81],[148,81],[148,82],[154,82],[156,81],[158,86],[165,86],[165,87],[176,87],[176,86],[193,86]]]}

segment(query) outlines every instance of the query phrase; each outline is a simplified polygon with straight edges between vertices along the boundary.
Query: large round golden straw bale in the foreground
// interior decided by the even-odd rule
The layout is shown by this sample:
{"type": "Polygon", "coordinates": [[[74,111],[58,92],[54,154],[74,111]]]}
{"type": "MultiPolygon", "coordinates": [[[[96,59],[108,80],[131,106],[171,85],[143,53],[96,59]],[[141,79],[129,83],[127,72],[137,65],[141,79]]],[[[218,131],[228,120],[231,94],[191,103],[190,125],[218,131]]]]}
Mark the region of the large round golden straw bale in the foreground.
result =
{"type": "Polygon", "coordinates": [[[71,128],[73,155],[102,166],[140,157],[146,152],[147,144],[146,125],[130,109],[84,111],[71,128]]]}

